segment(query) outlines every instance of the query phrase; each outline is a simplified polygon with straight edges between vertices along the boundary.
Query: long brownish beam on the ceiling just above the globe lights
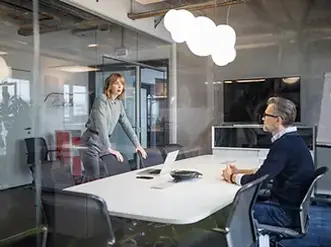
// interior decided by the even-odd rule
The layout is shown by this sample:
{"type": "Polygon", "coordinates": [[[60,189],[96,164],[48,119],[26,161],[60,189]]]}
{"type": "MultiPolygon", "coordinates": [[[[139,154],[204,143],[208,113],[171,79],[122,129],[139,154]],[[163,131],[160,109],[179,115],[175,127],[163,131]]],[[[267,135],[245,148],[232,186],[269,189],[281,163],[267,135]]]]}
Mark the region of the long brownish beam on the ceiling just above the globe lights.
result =
{"type": "Polygon", "coordinates": [[[198,11],[203,9],[212,9],[217,7],[226,7],[239,3],[246,3],[247,1],[249,0],[232,0],[232,1],[230,0],[230,1],[222,1],[222,2],[209,1],[205,3],[197,3],[197,4],[183,5],[177,7],[174,6],[173,8],[165,8],[165,9],[152,10],[152,11],[146,11],[140,13],[128,13],[128,17],[132,20],[137,20],[137,19],[144,19],[153,16],[165,15],[171,9],[186,9],[189,11],[198,11]]]}

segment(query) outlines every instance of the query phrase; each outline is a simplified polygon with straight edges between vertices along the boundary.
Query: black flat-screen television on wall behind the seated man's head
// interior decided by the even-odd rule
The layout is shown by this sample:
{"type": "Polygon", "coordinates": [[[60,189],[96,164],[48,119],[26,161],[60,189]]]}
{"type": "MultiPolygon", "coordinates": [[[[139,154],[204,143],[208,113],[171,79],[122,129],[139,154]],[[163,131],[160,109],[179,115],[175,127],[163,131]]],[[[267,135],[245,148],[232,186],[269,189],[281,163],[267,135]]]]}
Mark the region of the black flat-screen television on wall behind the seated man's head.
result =
{"type": "Polygon", "coordinates": [[[262,123],[267,100],[273,96],[293,101],[297,108],[296,122],[300,122],[300,83],[298,76],[223,81],[224,122],[262,123]]]}

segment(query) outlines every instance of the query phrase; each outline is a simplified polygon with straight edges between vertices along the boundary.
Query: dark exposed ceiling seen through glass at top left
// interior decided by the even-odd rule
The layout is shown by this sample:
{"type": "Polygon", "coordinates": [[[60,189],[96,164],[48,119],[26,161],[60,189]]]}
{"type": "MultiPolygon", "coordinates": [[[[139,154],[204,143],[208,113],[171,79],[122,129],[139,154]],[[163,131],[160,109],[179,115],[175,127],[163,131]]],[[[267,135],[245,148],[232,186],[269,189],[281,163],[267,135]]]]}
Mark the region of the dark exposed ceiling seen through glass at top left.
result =
{"type": "MultiPolygon", "coordinates": [[[[39,0],[40,33],[72,30],[72,34],[87,36],[95,30],[110,30],[111,24],[92,14],[57,0],[39,0]],[[85,33],[85,35],[83,34],[85,33]]],[[[0,2],[0,16],[8,23],[15,25],[18,34],[33,35],[32,0],[2,0],[0,2]]]]}

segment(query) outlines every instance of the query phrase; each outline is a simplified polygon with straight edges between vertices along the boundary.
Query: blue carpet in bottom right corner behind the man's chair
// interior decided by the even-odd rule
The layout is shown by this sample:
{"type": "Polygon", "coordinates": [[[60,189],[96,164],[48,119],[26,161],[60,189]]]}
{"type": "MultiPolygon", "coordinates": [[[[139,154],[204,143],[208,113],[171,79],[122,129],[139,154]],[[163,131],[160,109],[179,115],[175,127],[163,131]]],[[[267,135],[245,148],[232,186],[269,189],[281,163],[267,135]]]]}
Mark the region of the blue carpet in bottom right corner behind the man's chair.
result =
{"type": "Polygon", "coordinates": [[[309,229],[302,239],[283,240],[286,247],[331,247],[331,206],[314,205],[310,208],[309,229]]]}

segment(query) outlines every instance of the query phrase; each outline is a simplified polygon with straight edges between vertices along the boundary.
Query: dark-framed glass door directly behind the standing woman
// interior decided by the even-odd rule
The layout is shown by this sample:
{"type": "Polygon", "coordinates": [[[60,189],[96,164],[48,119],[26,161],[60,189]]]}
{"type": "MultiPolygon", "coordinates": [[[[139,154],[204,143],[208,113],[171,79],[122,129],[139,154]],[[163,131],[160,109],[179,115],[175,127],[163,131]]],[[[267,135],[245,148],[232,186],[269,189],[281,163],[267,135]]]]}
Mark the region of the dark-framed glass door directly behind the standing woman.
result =
{"type": "MultiPolygon", "coordinates": [[[[103,56],[100,70],[95,72],[95,95],[103,93],[105,79],[112,73],[124,76],[126,114],[144,148],[162,146],[168,142],[168,92],[163,68],[103,56]]],[[[135,148],[118,124],[111,136],[112,145],[134,158],[135,148]]]]}

